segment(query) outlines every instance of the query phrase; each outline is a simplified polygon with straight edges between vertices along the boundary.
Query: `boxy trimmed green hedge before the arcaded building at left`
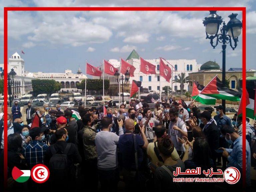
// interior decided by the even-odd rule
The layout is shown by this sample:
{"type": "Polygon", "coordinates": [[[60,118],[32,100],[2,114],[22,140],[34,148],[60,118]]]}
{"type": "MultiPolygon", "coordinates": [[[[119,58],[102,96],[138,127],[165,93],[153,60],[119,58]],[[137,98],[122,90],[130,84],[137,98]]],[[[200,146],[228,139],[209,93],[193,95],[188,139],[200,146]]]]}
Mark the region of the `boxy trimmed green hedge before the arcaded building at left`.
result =
{"type": "Polygon", "coordinates": [[[31,80],[33,93],[35,95],[47,93],[52,94],[61,89],[61,83],[56,82],[55,80],[41,80],[41,79],[33,79],[31,80]]]}

